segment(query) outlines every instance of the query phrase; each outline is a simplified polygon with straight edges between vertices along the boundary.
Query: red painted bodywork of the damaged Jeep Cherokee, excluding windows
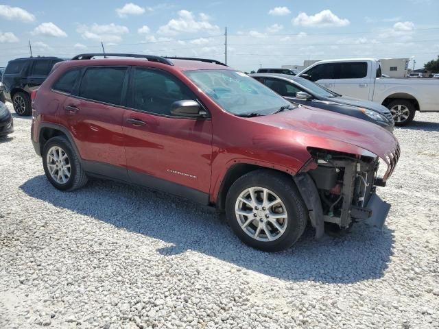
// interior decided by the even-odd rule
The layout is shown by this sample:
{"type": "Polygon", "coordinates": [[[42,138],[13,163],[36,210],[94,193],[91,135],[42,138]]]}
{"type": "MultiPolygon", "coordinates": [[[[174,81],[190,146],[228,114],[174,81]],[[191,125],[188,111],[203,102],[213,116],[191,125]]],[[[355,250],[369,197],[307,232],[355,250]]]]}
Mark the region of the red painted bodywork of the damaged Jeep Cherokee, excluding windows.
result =
{"type": "Polygon", "coordinates": [[[174,66],[132,59],[62,62],[36,95],[33,141],[38,143],[36,132],[40,122],[59,123],[73,135],[82,158],[209,193],[213,203],[228,169],[236,163],[258,164],[294,175],[311,157],[307,147],[359,155],[369,151],[388,162],[386,156],[398,145],[396,138],[378,125],[305,106],[264,117],[236,117],[222,110],[182,73],[189,69],[230,68],[187,60],[173,62],[174,66]],[[67,101],[64,103],[62,97],[65,96],[51,91],[50,87],[67,68],[91,65],[146,66],[167,71],[195,93],[209,110],[211,119],[161,117],[69,97],[69,102],[80,108],[71,115],[64,110],[67,101]],[[58,99],[61,104],[58,110],[47,107],[52,99],[58,99]],[[147,124],[136,127],[126,122],[130,118],[147,124]]]}

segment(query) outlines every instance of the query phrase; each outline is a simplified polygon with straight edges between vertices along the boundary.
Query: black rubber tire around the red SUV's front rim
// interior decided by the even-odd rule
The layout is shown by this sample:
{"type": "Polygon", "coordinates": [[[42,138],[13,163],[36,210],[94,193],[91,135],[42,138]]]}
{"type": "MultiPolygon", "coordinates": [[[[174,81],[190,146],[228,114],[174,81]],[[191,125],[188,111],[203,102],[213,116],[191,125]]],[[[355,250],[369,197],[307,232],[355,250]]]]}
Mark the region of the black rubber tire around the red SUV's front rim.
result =
{"type": "MultiPolygon", "coordinates": [[[[252,209],[250,206],[248,208],[252,209]]],[[[256,212],[256,210],[251,211],[256,212]]],[[[298,241],[300,236],[302,236],[303,232],[305,231],[308,220],[307,207],[305,206],[305,202],[303,202],[302,196],[294,184],[293,179],[288,177],[288,175],[278,173],[276,171],[270,171],[268,169],[251,171],[250,173],[238,178],[233,185],[230,186],[226,197],[226,215],[230,227],[232,228],[233,232],[237,234],[239,239],[241,239],[241,241],[247,245],[250,245],[250,247],[254,247],[265,252],[278,252],[294,245],[294,243],[298,241]],[[281,199],[281,202],[286,208],[287,222],[286,224],[284,222],[285,229],[283,234],[279,235],[274,241],[259,241],[248,235],[248,233],[244,232],[244,229],[241,228],[239,223],[240,219],[238,219],[238,216],[235,213],[235,206],[239,195],[246,191],[247,188],[254,186],[259,188],[268,188],[270,191],[275,193],[279,199],[281,199]]],[[[259,217],[259,215],[257,216],[259,217]]],[[[243,218],[247,220],[250,219],[251,216],[243,218]]],[[[250,226],[249,230],[252,230],[252,227],[254,227],[256,231],[257,226],[255,226],[255,224],[258,223],[257,218],[254,220],[256,222],[252,221],[248,225],[250,226]]],[[[261,218],[260,220],[262,222],[263,219],[261,218]]],[[[272,224],[271,228],[274,228],[272,224]]],[[[268,236],[266,237],[268,238],[268,236]]]]}

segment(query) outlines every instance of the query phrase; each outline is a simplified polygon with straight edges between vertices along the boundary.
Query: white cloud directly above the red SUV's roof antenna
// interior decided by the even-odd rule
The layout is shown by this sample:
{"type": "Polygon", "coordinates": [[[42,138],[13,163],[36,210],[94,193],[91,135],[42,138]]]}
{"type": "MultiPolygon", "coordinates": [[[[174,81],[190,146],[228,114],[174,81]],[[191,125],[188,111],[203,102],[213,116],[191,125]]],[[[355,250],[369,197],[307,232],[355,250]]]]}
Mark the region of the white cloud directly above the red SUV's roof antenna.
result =
{"type": "Polygon", "coordinates": [[[123,25],[115,25],[115,23],[99,25],[79,25],[76,29],[84,39],[99,40],[103,42],[121,42],[122,34],[129,31],[128,27],[123,25]]]}

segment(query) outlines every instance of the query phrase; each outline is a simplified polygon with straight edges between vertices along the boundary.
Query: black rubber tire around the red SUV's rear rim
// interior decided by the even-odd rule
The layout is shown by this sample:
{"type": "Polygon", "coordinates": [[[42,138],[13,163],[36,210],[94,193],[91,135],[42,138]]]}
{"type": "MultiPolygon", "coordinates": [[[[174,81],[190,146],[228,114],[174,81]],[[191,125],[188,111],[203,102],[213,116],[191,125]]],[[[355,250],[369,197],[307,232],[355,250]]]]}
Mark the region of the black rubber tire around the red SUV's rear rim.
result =
{"type": "MultiPolygon", "coordinates": [[[[67,162],[67,161],[66,161],[67,162]]],[[[73,191],[78,188],[81,188],[86,184],[88,178],[84,169],[82,169],[80,159],[76,154],[75,150],[71,146],[71,143],[65,136],[55,136],[49,139],[47,143],[45,143],[43,147],[43,167],[49,182],[58,188],[61,191],[73,191]],[[67,154],[67,160],[70,164],[70,177],[67,182],[60,183],[52,178],[49,173],[48,164],[47,164],[47,153],[52,147],[60,147],[62,151],[67,154]]]]}

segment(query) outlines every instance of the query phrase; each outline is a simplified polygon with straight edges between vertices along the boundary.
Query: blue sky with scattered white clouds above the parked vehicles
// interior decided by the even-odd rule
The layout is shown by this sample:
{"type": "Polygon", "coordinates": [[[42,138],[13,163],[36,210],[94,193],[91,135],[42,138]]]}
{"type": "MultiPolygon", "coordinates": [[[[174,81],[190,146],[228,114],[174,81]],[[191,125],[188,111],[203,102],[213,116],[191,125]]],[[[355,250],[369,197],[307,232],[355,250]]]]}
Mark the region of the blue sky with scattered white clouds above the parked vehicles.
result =
{"type": "MultiPolygon", "coordinates": [[[[224,61],[243,71],[330,58],[439,54],[439,1],[3,1],[0,66],[29,55],[152,53],[224,61]]],[[[410,62],[410,67],[412,67],[410,62]]]]}

